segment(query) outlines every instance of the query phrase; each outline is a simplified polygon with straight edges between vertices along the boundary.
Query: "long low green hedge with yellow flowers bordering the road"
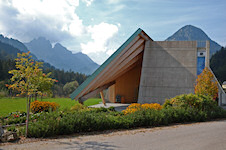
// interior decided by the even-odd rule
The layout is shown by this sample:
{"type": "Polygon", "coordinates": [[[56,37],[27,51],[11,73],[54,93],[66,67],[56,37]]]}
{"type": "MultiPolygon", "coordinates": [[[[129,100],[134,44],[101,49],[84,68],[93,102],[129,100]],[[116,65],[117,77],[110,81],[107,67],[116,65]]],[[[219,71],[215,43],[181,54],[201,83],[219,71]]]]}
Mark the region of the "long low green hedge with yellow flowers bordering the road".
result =
{"type": "Polygon", "coordinates": [[[123,112],[116,112],[113,108],[87,108],[75,105],[71,111],[41,114],[37,121],[30,123],[29,137],[50,137],[226,118],[226,111],[218,107],[210,97],[194,94],[179,95],[166,100],[163,108],[159,104],[135,103],[123,112]]]}

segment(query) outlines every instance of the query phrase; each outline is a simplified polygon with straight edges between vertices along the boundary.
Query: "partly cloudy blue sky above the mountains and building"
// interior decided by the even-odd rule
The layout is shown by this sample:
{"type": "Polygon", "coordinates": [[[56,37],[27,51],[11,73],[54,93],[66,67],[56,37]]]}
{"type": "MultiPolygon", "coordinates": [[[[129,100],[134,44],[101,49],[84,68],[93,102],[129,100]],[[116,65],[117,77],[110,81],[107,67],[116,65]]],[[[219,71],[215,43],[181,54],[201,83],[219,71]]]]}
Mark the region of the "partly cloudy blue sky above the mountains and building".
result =
{"type": "Polygon", "coordinates": [[[162,41],[185,25],[226,46],[226,0],[0,0],[0,33],[45,37],[102,64],[138,28],[162,41]]]}

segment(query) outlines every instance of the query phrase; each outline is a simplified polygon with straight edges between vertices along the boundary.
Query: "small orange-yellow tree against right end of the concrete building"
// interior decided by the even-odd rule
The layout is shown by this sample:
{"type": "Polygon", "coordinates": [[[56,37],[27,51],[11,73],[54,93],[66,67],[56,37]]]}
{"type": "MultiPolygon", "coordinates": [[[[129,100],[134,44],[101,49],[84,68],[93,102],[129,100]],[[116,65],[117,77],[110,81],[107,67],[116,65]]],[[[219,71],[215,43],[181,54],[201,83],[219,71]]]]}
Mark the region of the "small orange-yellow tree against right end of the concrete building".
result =
{"type": "Polygon", "coordinates": [[[209,68],[205,67],[196,79],[195,94],[211,96],[214,100],[218,97],[217,81],[209,68]]]}

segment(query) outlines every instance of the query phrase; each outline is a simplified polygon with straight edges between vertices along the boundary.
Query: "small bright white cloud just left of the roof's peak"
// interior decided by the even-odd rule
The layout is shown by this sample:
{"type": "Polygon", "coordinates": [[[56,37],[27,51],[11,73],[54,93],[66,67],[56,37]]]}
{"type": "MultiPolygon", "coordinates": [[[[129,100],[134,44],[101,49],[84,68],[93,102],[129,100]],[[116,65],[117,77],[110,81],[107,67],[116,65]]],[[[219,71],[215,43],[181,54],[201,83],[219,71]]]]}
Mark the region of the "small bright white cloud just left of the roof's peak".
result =
{"type": "Polygon", "coordinates": [[[118,32],[118,26],[102,22],[98,25],[89,26],[88,32],[93,41],[82,43],[82,52],[85,54],[109,51],[108,42],[118,32]]]}

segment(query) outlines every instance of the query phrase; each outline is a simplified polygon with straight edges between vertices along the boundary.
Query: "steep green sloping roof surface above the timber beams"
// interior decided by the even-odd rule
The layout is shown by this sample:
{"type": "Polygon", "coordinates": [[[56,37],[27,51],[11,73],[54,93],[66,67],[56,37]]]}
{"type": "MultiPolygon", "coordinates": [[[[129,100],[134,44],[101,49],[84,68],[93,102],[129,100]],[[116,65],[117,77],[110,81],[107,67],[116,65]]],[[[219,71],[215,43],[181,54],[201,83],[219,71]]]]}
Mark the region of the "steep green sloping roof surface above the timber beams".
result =
{"type": "Polygon", "coordinates": [[[112,61],[114,58],[122,52],[122,50],[138,35],[142,32],[142,29],[137,29],[135,33],[133,33],[132,36],[128,40],[126,40],[125,43],[122,44],[89,78],[87,78],[71,95],[71,99],[75,99],[75,97],[82,92],[86,86],[90,84],[91,81],[93,81],[96,76],[112,61]]]}

